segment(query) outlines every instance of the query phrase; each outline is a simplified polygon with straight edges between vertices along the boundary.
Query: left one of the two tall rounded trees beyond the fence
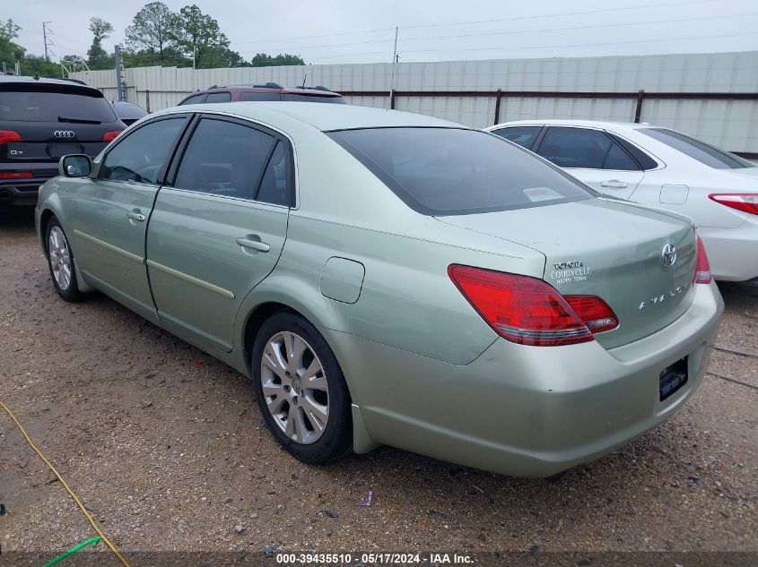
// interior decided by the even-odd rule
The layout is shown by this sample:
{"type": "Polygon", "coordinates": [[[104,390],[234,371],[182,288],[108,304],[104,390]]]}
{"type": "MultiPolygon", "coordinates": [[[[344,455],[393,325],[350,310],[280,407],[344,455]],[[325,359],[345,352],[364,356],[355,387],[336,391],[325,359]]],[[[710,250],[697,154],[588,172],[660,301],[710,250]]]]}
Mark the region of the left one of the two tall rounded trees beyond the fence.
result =
{"type": "Polygon", "coordinates": [[[178,64],[182,62],[177,38],[179,17],[162,2],[145,4],[126,28],[127,61],[136,64],[178,64]]]}

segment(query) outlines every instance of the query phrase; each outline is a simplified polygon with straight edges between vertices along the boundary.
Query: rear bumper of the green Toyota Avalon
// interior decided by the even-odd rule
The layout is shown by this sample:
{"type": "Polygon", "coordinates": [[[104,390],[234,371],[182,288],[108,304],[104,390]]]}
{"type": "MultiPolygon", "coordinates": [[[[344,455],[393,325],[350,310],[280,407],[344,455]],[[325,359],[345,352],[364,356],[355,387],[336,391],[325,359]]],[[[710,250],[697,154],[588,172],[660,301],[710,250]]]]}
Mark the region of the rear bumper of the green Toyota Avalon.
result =
{"type": "Polygon", "coordinates": [[[666,329],[606,350],[596,341],[524,347],[497,339],[466,366],[322,330],[371,439],[516,477],[549,477],[671,416],[701,382],[723,301],[698,286],[666,329]],[[688,382],[659,400],[662,370],[688,357],[688,382]]]}

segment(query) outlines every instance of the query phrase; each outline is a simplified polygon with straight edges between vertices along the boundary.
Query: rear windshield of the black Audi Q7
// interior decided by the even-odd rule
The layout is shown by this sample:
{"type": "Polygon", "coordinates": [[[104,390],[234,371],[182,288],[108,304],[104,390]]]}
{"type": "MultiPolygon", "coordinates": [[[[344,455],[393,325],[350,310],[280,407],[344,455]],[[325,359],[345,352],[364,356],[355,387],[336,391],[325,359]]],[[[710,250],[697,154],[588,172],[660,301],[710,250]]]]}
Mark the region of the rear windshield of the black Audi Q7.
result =
{"type": "Polygon", "coordinates": [[[118,118],[109,101],[97,90],[45,84],[0,90],[0,120],[99,124],[118,118]]]}

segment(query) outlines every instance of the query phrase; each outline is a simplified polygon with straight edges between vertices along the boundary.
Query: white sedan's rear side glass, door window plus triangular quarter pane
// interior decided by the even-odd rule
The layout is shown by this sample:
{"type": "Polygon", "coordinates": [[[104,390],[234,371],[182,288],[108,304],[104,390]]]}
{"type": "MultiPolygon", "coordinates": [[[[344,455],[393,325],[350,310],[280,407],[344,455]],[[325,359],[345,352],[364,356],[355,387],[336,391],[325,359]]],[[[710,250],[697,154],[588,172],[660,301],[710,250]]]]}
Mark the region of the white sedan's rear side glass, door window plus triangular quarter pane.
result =
{"type": "Polygon", "coordinates": [[[588,128],[551,126],[536,152],[561,168],[640,169],[610,136],[588,128]]]}

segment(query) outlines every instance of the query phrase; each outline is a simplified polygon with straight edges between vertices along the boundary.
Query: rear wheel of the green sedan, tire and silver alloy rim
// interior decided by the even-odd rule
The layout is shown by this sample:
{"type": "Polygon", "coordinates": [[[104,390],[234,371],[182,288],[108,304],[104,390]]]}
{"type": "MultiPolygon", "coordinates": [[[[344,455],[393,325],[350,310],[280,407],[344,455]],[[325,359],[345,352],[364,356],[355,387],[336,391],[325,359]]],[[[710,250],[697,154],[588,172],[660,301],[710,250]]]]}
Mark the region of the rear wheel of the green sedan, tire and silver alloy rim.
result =
{"type": "Polygon", "coordinates": [[[251,368],[266,425],[295,459],[322,464],[350,449],[350,392],[332,349],[310,322],[290,312],[272,315],[257,333],[251,368]]]}

